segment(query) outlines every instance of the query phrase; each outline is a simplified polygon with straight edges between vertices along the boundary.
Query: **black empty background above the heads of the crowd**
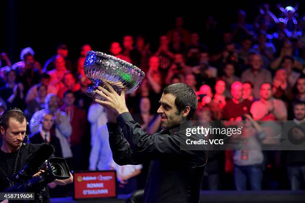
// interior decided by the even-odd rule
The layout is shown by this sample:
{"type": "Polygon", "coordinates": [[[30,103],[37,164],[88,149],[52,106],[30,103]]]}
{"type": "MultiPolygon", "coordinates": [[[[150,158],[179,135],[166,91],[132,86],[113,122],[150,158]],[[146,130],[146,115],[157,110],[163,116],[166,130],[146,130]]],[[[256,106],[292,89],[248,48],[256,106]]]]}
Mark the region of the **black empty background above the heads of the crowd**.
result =
{"type": "MultiPolygon", "coordinates": [[[[268,2],[279,16],[277,3],[283,7],[295,6],[296,0],[244,1],[65,1],[65,0],[1,0],[0,52],[8,54],[11,62],[19,61],[22,48],[32,47],[35,58],[44,62],[56,53],[56,46],[65,43],[72,60],[79,56],[83,44],[93,50],[108,52],[112,41],[122,41],[123,35],[144,35],[157,46],[158,36],[174,26],[176,16],[184,17],[184,27],[199,31],[208,15],[224,29],[236,21],[236,11],[247,11],[247,22],[259,14],[259,5],[268,2]]],[[[304,1],[299,2],[298,13],[304,14],[304,1]]]]}

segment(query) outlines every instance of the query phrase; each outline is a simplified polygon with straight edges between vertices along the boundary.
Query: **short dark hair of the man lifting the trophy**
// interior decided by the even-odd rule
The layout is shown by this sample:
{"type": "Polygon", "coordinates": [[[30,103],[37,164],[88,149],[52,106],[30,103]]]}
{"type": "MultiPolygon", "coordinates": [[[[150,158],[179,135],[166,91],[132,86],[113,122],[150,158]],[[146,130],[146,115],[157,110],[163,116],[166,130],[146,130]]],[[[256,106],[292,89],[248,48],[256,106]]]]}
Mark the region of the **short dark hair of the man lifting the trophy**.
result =
{"type": "Polygon", "coordinates": [[[197,96],[194,90],[184,83],[175,83],[167,86],[164,88],[163,94],[175,96],[175,105],[178,109],[178,113],[181,113],[186,106],[190,107],[187,119],[189,119],[197,109],[197,96]]]}

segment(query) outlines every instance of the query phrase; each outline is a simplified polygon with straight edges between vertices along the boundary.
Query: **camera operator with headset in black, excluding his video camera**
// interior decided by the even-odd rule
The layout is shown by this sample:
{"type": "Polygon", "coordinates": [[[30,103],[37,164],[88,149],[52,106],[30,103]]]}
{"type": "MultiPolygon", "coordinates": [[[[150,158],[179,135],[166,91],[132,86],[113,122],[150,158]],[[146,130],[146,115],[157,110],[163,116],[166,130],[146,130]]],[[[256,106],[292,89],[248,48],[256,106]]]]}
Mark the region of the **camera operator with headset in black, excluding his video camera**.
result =
{"type": "MultiPolygon", "coordinates": [[[[27,131],[26,129],[26,119],[24,113],[20,109],[10,109],[1,117],[0,132],[3,139],[0,150],[1,192],[11,186],[9,178],[24,167],[28,155],[33,153],[40,146],[38,144],[25,144],[25,142],[23,142],[27,131]]],[[[43,172],[43,170],[39,170],[36,174],[33,174],[33,177],[39,176],[43,172]]],[[[72,181],[73,176],[70,173],[69,179],[55,180],[53,183],[66,185],[72,183],[72,181]]],[[[38,191],[30,192],[35,193],[35,202],[50,202],[46,186],[39,188],[38,191]]]]}

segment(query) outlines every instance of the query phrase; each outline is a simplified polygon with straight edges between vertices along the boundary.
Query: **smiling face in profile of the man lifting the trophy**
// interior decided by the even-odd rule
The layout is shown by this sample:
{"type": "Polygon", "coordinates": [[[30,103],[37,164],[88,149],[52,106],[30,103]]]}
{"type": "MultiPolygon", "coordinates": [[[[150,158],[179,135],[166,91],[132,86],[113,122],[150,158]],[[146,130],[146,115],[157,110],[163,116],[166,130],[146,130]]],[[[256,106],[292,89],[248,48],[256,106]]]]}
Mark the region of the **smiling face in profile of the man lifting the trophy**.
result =
{"type": "Polygon", "coordinates": [[[175,105],[175,96],[171,94],[162,94],[160,107],[157,113],[161,116],[161,127],[163,129],[171,128],[183,121],[182,112],[178,113],[175,105]]]}

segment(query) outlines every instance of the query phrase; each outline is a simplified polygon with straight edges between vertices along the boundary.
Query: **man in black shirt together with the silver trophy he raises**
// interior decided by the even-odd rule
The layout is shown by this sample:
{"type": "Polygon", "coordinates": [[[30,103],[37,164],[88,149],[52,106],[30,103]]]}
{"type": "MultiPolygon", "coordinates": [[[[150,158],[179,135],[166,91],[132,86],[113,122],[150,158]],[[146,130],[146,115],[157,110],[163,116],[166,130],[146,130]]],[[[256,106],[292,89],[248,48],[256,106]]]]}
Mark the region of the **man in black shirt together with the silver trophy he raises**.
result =
{"type": "MultiPolygon", "coordinates": [[[[167,86],[157,113],[163,130],[146,133],[130,114],[125,94],[136,90],[145,74],[118,58],[88,52],[84,63],[86,76],[95,83],[87,95],[103,105],[108,116],[109,143],[119,165],[137,165],[151,160],[146,182],[145,203],[198,203],[206,150],[181,149],[189,118],[197,108],[197,97],[188,85],[167,86]]],[[[202,137],[193,134],[191,139],[202,137]]]]}

